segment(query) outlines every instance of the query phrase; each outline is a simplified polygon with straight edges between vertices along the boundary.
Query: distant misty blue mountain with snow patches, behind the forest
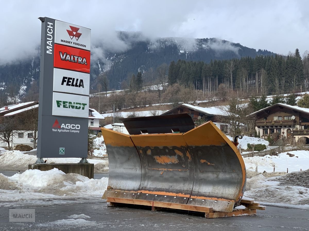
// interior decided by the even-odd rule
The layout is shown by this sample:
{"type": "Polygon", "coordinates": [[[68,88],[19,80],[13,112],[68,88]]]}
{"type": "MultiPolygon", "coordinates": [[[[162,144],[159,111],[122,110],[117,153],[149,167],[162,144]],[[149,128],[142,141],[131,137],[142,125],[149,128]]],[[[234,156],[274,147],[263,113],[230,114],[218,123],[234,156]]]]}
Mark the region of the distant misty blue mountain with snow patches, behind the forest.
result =
{"type": "MultiPolygon", "coordinates": [[[[239,43],[231,43],[216,38],[160,38],[155,40],[141,39],[138,33],[119,32],[118,37],[129,44],[125,51],[106,51],[103,59],[91,59],[91,88],[95,88],[95,79],[103,72],[109,80],[108,90],[120,89],[121,83],[128,76],[139,70],[155,70],[163,63],[179,59],[187,61],[204,61],[256,57],[257,55],[275,55],[267,50],[256,51],[239,43]]],[[[104,47],[100,47],[104,51],[104,47]]],[[[106,49],[105,49],[106,50],[106,49]]],[[[39,80],[40,55],[23,61],[0,66],[0,89],[14,85],[19,87],[21,96],[30,88],[31,83],[39,80]]]]}

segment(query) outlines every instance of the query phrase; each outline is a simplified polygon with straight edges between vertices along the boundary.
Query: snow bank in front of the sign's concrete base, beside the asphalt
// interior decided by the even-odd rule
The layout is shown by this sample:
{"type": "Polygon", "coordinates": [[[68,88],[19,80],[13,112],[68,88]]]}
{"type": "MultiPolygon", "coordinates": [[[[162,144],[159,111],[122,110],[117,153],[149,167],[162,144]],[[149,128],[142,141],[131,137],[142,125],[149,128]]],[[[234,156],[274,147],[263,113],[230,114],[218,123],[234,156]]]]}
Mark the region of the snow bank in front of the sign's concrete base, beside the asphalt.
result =
{"type": "Polygon", "coordinates": [[[30,169],[10,177],[0,173],[0,201],[4,206],[11,206],[12,202],[50,205],[79,197],[99,199],[107,183],[107,177],[89,179],[76,173],[65,174],[57,168],[49,171],[30,169]]]}

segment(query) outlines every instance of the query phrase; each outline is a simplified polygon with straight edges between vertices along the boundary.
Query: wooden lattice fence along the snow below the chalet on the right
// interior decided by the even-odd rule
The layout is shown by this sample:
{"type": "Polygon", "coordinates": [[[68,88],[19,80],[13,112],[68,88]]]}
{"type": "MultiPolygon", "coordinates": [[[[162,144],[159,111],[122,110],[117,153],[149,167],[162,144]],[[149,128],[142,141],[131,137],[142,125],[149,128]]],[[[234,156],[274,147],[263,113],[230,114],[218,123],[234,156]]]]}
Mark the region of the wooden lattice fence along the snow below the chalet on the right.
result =
{"type": "Polygon", "coordinates": [[[296,151],[296,150],[309,150],[309,144],[282,146],[282,147],[272,148],[272,149],[260,151],[260,152],[248,152],[248,153],[241,154],[241,155],[243,157],[266,156],[266,155],[274,156],[281,152],[290,152],[290,151],[296,151]]]}

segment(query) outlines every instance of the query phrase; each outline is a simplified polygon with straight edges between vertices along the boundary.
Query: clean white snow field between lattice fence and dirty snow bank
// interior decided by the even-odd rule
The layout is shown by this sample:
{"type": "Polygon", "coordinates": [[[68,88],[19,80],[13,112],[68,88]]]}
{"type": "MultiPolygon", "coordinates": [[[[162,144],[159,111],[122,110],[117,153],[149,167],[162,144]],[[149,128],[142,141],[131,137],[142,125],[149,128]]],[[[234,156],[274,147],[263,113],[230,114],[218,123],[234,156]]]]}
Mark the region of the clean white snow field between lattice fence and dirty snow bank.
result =
{"type": "Polygon", "coordinates": [[[258,172],[273,172],[275,167],[276,172],[289,172],[306,170],[309,168],[309,151],[291,151],[293,157],[286,155],[288,152],[282,152],[278,156],[253,156],[243,158],[246,169],[255,171],[257,166],[258,172]]]}

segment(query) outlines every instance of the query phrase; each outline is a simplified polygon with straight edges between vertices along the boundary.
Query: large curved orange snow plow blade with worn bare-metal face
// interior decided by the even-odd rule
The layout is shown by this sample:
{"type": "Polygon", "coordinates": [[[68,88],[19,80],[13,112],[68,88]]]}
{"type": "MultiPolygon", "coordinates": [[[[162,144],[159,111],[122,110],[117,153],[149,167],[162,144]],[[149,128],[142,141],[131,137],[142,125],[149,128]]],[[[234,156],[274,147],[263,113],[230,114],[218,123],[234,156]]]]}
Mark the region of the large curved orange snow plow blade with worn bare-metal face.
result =
{"type": "Polygon", "coordinates": [[[240,204],[246,169],[211,121],[184,133],[125,135],[101,128],[109,160],[107,197],[212,207],[240,204]]]}

